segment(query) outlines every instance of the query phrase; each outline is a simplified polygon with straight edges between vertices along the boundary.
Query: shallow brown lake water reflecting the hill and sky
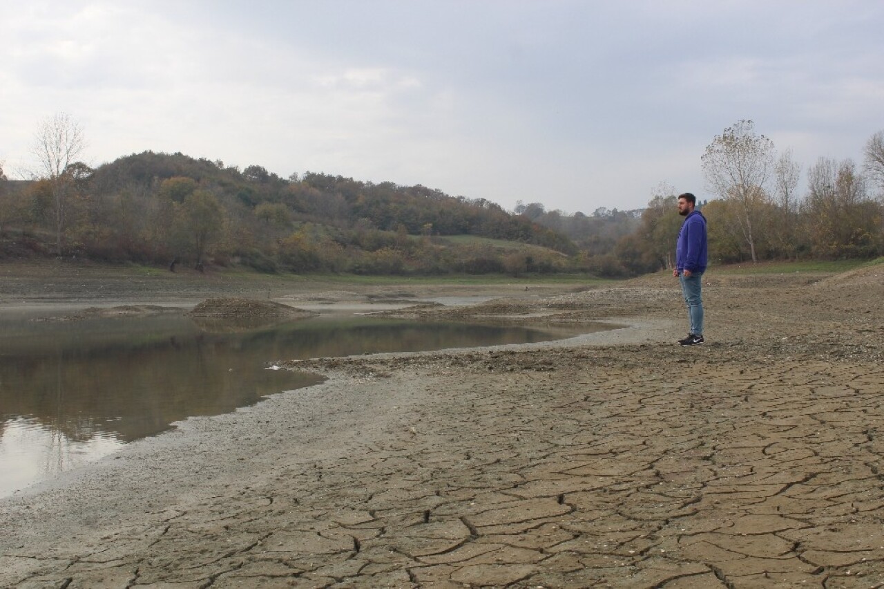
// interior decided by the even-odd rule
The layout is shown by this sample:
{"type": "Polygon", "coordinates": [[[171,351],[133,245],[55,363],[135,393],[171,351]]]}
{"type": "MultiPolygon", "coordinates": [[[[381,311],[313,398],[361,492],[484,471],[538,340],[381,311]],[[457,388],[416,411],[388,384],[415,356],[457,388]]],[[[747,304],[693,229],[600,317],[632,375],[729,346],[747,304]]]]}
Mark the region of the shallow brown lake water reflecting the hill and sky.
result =
{"type": "MultiPolygon", "coordinates": [[[[0,317],[0,497],[192,416],[310,386],[276,360],[471,348],[574,335],[544,327],[315,317],[281,325],[179,313],[40,321],[0,317]]],[[[591,329],[583,329],[583,332],[591,329]]]]}

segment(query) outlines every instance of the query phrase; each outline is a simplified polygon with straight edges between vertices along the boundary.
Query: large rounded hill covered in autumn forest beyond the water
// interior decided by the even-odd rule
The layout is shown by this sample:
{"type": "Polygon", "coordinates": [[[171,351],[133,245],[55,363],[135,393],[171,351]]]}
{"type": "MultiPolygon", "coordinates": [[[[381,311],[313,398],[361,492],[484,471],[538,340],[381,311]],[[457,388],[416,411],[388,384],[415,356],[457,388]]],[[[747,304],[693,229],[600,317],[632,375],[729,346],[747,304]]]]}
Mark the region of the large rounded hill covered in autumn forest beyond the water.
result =
{"type": "Polygon", "coordinates": [[[31,226],[32,235],[42,233],[47,242],[60,235],[55,241],[61,241],[56,244],[61,255],[147,264],[240,263],[266,271],[504,271],[503,249],[479,251],[476,245],[490,240],[530,244],[535,255],[523,255],[527,261],[515,265],[552,270],[552,260],[576,251],[564,234],[498,204],[421,185],[312,172],[283,179],[260,165],[240,171],[151,151],[95,170],[75,164],[68,177],[65,202],[48,181],[34,182],[19,188],[25,198],[15,201],[27,206],[7,211],[0,222],[31,226]],[[455,235],[456,243],[444,240],[455,235]],[[450,251],[468,242],[471,253],[450,251]]]}

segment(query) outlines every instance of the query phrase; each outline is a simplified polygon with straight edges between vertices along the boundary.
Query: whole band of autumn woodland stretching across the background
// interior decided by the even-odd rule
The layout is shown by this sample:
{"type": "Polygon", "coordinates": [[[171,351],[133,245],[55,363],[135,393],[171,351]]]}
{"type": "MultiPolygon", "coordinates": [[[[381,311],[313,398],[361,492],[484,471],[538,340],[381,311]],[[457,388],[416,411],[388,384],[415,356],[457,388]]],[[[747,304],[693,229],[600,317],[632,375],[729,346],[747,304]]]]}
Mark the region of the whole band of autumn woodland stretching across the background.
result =
{"type": "MultiPolygon", "coordinates": [[[[821,157],[804,172],[788,150],[777,154],[751,121],[740,121],[702,161],[720,195],[700,206],[713,264],[884,255],[884,132],[866,144],[861,166],[821,157]]],[[[240,170],[180,153],[46,167],[29,181],[6,180],[0,169],[0,258],[623,277],[670,267],[682,222],[677,192],[665,184],[643,210],[568,215],[542,203],[509,212],[420,185],[314,172],[283,179],[261,165],[240,170]]]]}

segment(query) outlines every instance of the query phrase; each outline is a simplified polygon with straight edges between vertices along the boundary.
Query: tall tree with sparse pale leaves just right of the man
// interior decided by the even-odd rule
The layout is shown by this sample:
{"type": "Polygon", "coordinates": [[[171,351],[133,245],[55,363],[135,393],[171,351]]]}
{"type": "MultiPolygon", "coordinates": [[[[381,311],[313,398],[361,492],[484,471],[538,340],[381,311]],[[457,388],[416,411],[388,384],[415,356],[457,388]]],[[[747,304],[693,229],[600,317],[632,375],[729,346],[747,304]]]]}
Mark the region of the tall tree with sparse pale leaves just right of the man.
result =
{"type": "Polygon", "coordinates": [[[755,134],[751,120],[728,126],[700,158],[706,180],[721,198],[737,204],[737,220],[749,245],[752,262],[758,261],[754,227],[766,204],[765,186],[773,171],[773,142],[755,134]]]}

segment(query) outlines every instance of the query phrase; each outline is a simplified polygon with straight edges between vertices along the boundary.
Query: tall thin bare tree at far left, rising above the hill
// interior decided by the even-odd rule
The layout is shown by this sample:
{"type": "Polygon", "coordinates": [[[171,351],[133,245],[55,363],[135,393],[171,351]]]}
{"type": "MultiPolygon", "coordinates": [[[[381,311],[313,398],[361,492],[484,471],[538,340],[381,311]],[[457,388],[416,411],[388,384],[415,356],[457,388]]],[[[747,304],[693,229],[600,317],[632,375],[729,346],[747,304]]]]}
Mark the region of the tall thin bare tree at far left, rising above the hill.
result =
{"type": "Polygon", "coordinates": [[[71,165],[86,147],[80,124],[65,112],[44,119],[34,135],[31,148],[40,164],[38,177],[48,180],[52,193],[56,226],[56,254],[61,256],[67,217],[68,188],[72,184],[71,165]]]}

